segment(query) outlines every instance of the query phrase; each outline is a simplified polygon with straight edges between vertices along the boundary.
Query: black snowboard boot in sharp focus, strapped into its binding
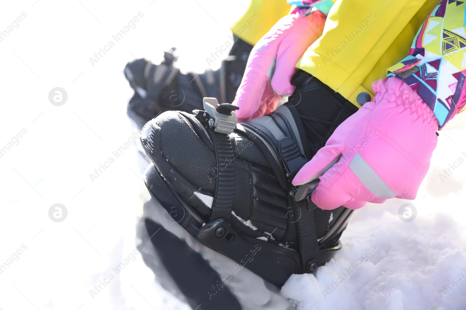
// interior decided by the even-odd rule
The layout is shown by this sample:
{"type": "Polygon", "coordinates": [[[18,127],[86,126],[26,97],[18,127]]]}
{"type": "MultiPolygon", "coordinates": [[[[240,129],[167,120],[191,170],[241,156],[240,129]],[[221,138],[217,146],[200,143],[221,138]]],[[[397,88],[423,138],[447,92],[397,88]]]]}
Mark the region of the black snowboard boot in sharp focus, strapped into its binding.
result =
{"type": "MultiPolygon", "coordinates": [[[[304,98],[314,97],[315,82],[302,82],[304,98]]],[[[145,183],[199,242],[281,286],[333,256],[352,211],[322,210],[308,198],[310,186],[291,184],[313,140],[296,106],[239,124],[235,109],[205,98],[194,114],[164,112],[148,122],[141,142],[153,165],[145,183]]],[[[327,122],[343,122],[352,112],[345,113],[327,113],[327,122]]]]}

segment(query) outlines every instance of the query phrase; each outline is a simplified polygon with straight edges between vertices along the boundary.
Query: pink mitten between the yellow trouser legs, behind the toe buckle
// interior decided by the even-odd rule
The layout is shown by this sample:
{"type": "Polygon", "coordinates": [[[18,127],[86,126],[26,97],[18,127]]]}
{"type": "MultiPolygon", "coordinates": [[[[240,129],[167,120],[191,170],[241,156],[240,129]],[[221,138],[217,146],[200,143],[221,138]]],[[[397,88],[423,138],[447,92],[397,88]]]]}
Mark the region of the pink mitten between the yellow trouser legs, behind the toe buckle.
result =
{"type": "Polygon", "coordinates": [[[290,81],[295,65],[322,34],[325,15],[307,8],[295,9],[279,20],[254,46],[233,105],[238,120],[246,121],[273,112],[281,96],[295,90],[290,81]]]}

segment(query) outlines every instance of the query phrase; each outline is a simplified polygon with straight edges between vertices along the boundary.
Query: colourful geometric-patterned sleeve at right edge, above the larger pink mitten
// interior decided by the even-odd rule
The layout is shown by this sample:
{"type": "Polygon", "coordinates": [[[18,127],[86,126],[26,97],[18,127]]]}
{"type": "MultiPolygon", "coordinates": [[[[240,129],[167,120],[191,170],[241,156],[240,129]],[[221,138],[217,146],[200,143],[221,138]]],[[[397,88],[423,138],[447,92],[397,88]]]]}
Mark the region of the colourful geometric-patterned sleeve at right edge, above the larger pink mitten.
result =
{"type": "Polygon", "coordinates": [[[387,69],[424,99],[440,129],[466,104],[465,2],[441,0],[413,40],[409,56],[387,69]]]}

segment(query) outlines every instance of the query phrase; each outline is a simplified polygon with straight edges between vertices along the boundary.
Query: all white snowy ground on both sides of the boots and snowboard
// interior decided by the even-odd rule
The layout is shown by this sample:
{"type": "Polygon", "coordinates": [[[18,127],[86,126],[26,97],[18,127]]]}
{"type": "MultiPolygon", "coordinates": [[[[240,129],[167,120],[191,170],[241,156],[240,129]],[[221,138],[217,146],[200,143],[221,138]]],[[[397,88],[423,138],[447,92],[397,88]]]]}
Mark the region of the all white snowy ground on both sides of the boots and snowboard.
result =
{"type": "MultiPolygon", "coordinates": [[[[0,158],[0,309],[189,309],[133,254],[142,181],[122,70],[177,46],[178,66],[199,72],[246,7],[246,0],[225,7],[214,0],[4,4],[0,32],[13,30],[0,42],[0,149],[8,148],[0,158]],[[112,35],[138,13],[115,42],[112,35]],[[115,45],[91,64],[110,40],[115,45]],[[55,87],[67,92],[62,106],[48,99],[55,87]],[[112,152],[121,146],[117,158],[112,152]],[[68,213],[59,223],[49,218],[57,203],[68,213]]],[[[293,276],[283,287],[298,309],[466,308],[466,164],[439,178],[466,159],[465,117],[440,133],[429,175],[410,202],[415,220],[398,217],[402,200],[356,211],[343,250],[316,277],[293,276]]]]}

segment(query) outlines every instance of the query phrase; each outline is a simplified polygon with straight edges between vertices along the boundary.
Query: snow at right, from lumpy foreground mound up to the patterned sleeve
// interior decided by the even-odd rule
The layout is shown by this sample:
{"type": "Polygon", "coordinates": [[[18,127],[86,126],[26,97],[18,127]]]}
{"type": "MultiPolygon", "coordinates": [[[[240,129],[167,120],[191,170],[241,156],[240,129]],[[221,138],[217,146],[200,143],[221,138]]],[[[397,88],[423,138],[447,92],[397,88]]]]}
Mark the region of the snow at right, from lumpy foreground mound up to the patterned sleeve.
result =
{"type": "Polygon", "coordinates": [[[315,276],[288,279],[282,293],[296,309],[466,309],[466,165],[443,183],[439,177],[465,158],[464,123],[460,114],[440,132],[418,198],[356,210],[342,235],[342,250],[315,276]],[[417,209],[411,222],[398,216],[405,203],[417,209]],[[368,255],[371,246],[376,250],[368,255]],[[354,264],[357,268],[349,269],[354,264]]]}

